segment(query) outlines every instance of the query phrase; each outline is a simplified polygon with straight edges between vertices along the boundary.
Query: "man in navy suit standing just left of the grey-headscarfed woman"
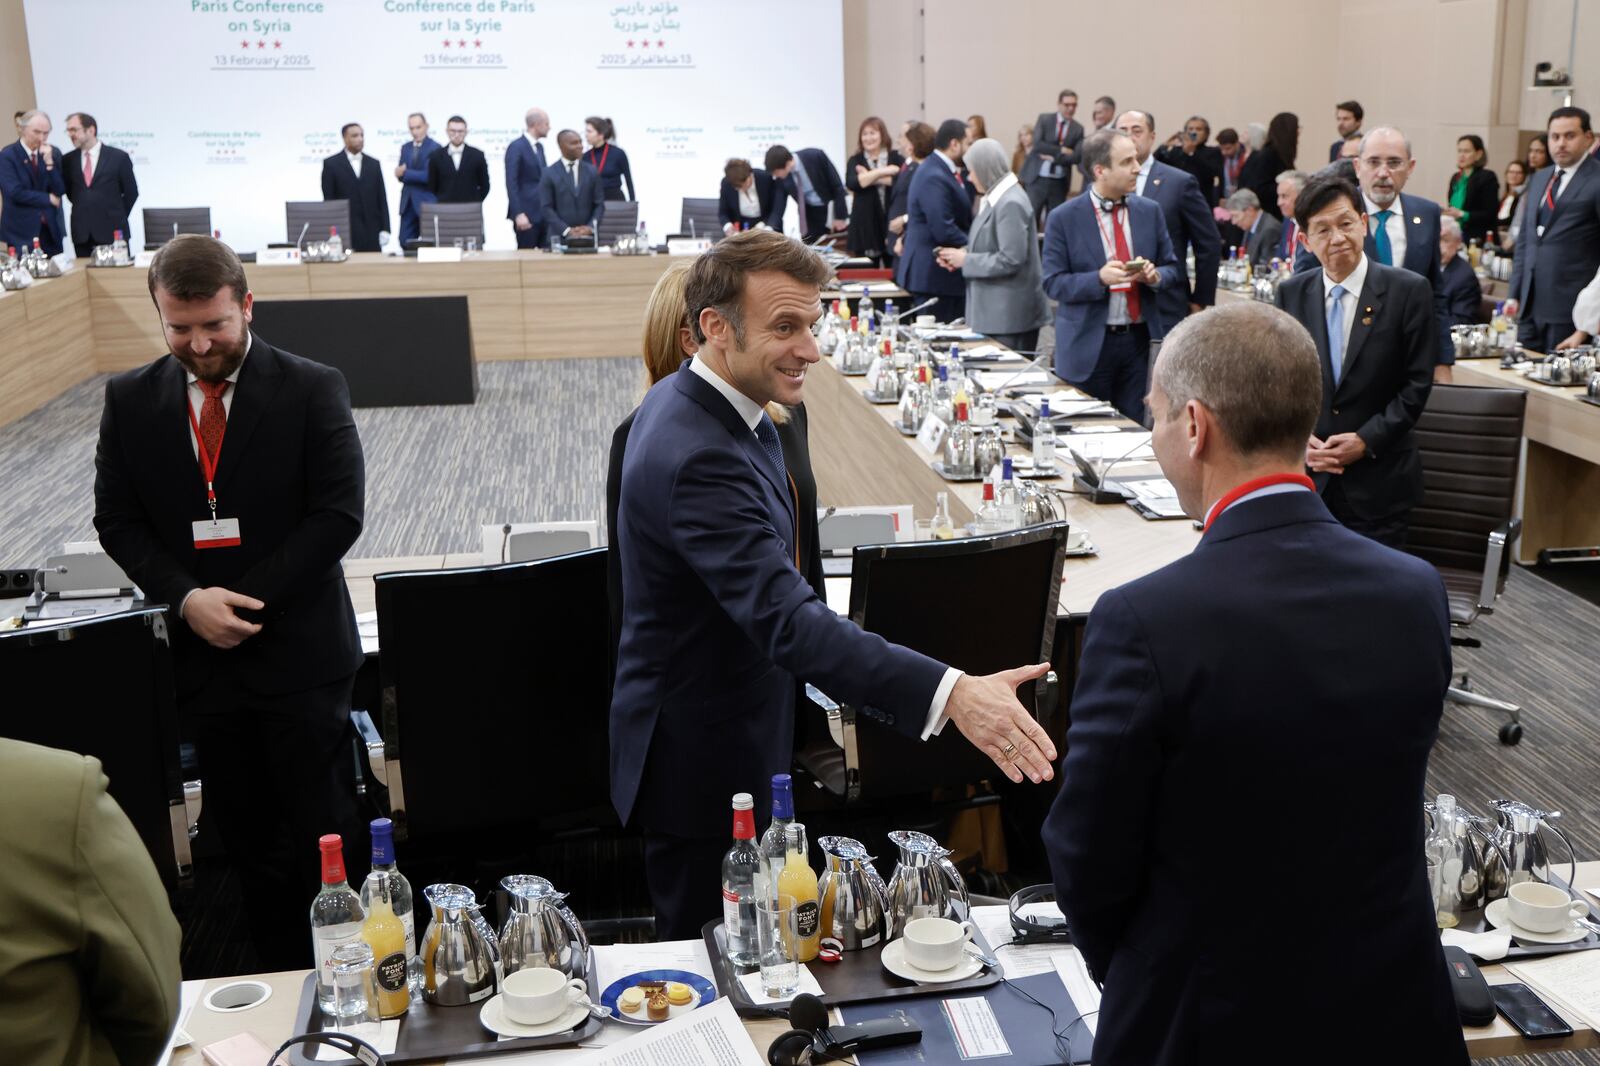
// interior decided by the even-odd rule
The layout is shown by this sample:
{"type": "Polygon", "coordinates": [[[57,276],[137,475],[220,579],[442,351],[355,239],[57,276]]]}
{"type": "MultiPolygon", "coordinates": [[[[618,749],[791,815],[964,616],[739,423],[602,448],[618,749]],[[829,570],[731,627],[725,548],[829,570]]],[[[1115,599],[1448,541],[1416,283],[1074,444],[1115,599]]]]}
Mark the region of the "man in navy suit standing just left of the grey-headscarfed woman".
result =
{"type": "Polygon", "coordinates": [[[966,150],[966,123],[946,118],[934,133],[933,155],[917,168],[906,197],[906,243],[894,277],[910,293],[910,303],[936,301],[930,311],[939,322],[966,315],[966,280],[960,271],[939,266],[939,248],[965,248],[973,224],[973,202],[957,171],[966,150]]]}

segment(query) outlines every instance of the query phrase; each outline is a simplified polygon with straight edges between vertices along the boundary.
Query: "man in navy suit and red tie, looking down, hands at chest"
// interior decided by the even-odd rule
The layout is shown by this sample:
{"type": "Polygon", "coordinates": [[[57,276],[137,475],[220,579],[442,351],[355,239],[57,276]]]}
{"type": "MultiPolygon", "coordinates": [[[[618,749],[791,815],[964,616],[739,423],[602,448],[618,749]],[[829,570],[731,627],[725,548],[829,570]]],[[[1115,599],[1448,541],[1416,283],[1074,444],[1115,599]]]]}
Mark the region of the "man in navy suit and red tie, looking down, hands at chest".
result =
{"type": "Polygon", "coordinates": [[[1096,130],[1080,149],[1094,176],[1045,222],[1045,293],[1056,301],[1056,375],[1144,421],[1150,344],[1166,335],[1163,287],[1182,288],[1166,219],[1133,195],[1139,158],[1118,130],[1096,130]]]}

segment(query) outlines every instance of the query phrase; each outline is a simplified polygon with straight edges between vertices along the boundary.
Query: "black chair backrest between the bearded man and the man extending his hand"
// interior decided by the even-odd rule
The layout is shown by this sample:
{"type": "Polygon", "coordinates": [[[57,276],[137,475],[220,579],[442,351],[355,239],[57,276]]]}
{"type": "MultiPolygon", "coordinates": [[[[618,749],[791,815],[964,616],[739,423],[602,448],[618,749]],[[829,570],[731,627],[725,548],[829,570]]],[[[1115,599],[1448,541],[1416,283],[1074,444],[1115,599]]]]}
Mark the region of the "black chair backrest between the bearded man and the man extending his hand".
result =
{"type": "Polygon", "coordinates": [[[411,847],[504,852],[563,816],[614,824],[605,563],[602,547],[376,576],[390,815],[411,847]]]}

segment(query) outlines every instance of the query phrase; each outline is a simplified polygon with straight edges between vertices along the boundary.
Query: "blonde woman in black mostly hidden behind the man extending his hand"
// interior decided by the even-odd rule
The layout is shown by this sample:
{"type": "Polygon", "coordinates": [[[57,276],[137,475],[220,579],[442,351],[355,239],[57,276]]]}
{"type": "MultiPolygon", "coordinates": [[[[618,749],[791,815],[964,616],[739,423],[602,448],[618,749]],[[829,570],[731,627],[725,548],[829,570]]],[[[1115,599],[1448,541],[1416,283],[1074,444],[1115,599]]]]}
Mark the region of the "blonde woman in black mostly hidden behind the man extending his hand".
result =
{"type": "MultiPolygon", "coordinates": [[[[683,288],[688,283],[693,261],[678,261],[656,282],[645,304],[643,355],[648,384],[654,386],[667,375],[677,373],[683,360],[694,354],[694,335],[688,327],[688,306],[683,288]]],[[[634,415],[611,434],[611,459],[605,475],[605,528],[606,543],[616,544],[616,511],[622,499],[622,458],[627,453],[627,434],[634,427],[634,415]]],[[[784,466],[795,487],[800,527],[795,554],[800,557],[806,583],[821,599],[827,599],[822,584],[822,546],[816,530],[816,475],[811,472],[811,448],[806,440],[805,405],[781,407],[768,403],[766,413],[778,424],[778,443],[784,448],[784,466]]],[[[616,552],[606,555],[606,592],[611,599],[611,669],[616,669],[616,648],[622,639],[622,560],[616,552]]],[[[798,715],[797,715],[798,720],[798,715]]]]}

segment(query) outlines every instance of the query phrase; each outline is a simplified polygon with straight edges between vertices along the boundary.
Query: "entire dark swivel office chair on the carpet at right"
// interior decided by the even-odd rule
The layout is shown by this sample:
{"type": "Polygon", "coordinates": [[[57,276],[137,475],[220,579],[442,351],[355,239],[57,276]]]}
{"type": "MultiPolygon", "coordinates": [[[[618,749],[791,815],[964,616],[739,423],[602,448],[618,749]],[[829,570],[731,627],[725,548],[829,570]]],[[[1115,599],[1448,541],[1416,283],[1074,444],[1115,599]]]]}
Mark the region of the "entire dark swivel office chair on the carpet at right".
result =
{"type": "MultiPolygon", "coordinates": [[[[1435,384],[1416,423],[1422,458],[1422,503],[1411,511],[1406,551],[1438,568],[1450,595],[1450,642],[1482,647],[1466,634],[1480,615],[1494,611],[1506,589],[1512,546],[1522,533],[1514,519],[1517,459],[1528,394],[1435,384]]],[[[1509,714],[1502,744],[1522,739],[1522,707],[1472,691],[1462,672],[1448,699],[1509,714]]]]}

